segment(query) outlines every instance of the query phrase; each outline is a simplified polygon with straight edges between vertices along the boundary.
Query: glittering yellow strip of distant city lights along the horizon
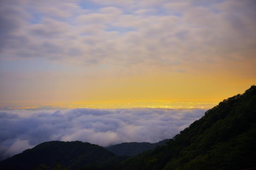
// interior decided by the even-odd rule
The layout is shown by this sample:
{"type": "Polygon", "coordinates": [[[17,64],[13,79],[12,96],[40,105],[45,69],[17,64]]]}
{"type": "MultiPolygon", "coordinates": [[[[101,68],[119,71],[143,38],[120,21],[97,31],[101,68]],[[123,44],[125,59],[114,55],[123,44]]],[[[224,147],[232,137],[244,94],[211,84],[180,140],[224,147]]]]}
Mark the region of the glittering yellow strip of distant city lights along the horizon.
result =
{"type": "Polygon", "coordinates": [[[120,108],[171,108],[171,109],[209,109],[216,106],[219,101],[108,101],[108,102],[79,102],[79,103],[48,103],[48,104],[1,104],[0,108],[8,109],[73,109],[73,108],[96,108],[96,109],[120,109],[120,108]]]}

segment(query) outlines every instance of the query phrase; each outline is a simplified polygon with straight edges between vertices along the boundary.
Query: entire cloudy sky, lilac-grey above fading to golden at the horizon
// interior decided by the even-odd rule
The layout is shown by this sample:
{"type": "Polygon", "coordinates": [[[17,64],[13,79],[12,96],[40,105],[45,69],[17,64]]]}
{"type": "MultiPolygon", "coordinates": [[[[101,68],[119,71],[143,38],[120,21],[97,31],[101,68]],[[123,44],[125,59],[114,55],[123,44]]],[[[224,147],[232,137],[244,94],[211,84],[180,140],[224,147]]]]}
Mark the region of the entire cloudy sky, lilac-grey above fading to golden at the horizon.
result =
{"type": "Polygon", "coordinates": [[[1,0],[0,102],[221,101],[256,80],[254,0],[1,0]]]}

